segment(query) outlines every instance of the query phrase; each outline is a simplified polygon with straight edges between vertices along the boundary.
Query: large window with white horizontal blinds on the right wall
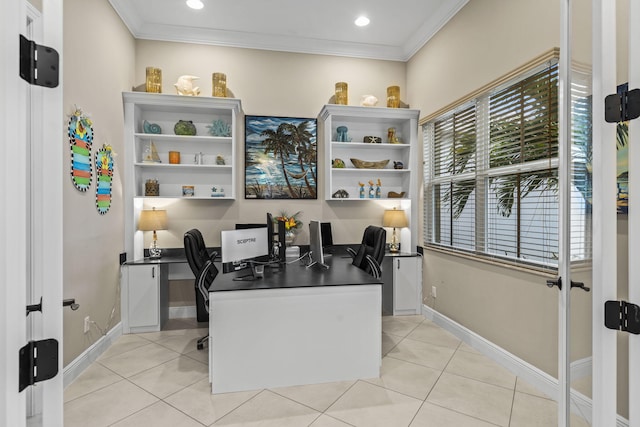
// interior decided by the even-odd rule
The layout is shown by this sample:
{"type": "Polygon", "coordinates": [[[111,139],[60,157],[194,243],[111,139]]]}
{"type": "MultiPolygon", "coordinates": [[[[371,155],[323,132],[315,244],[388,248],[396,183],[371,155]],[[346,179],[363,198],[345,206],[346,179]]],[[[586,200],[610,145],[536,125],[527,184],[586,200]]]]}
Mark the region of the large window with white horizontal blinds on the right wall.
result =
{"type": "MultiPolygon", "coordinates": [[[[573,112],[574,134],[588,145],[577,150],[583,153],[590,151],[585,99],[574,103],[573,112]]],[[[427,121],[423,137],[425,245],[557,267],[556,61],[427,121]]],[[[584,158],[574,162],[572,221],[582,224],[578,240],[587,235],[580,221],[590,203],[581,191],[590,189],[584,158]]],[[[587,255],[585,250],[573,254],[587,255]]]]}

